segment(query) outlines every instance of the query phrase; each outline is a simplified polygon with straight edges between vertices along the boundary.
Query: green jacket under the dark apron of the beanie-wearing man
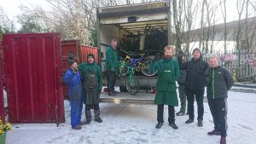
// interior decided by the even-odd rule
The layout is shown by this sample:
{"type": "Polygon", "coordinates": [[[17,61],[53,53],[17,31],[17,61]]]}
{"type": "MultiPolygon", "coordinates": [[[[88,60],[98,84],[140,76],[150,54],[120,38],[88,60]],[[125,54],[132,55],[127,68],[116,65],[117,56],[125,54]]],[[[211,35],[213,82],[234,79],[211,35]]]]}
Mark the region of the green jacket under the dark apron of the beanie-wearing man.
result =
{"type": "MultiPolygon", "coordinates": [[[[98,89],[102,90],[102,70],[100,66],[96,65],[95,63],[82,63],[79,65],[79,71],[81,72],[82,79],[85,76],[86,70],[96,70],[96,75],[98,77],[98,89]]],[[[84,79],[83,79],[84,80],[84,79]]],[[[85,79],[86,80],[86,79],[85,79]]]]}

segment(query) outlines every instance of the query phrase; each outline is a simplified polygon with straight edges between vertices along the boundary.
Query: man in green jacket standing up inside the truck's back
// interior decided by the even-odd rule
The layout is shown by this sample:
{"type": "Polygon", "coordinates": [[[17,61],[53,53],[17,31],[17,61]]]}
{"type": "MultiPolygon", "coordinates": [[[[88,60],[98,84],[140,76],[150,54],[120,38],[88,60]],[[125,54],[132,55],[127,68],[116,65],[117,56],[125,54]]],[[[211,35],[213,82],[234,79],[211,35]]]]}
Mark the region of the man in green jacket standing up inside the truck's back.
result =
{"type": "Polygon", "coordinates": [[[116,81],[116,70],[118,68],[118,55],[116,52],[117,40],[113,38],[111,43],[106,50],[106,71],[108,80],[108,95],[115,96],[118,94],[114,90],[114,85],[116,81]]]}

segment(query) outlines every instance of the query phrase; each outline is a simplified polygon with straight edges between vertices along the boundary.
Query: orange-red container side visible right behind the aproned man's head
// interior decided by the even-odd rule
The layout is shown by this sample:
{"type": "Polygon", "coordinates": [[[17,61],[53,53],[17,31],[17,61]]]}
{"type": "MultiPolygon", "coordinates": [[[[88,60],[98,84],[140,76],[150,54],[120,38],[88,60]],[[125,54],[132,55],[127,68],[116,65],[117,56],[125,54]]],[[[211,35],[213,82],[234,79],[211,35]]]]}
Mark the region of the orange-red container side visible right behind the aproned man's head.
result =
{"type": "Polygon", "coordinates": [[[87,62],[87,55],[93,54],[95,56],[95,62],[98,63],[98,49],[96,47],[91,47],[88,45],[80,45],[81,50],[81,63],[87,62]]]}

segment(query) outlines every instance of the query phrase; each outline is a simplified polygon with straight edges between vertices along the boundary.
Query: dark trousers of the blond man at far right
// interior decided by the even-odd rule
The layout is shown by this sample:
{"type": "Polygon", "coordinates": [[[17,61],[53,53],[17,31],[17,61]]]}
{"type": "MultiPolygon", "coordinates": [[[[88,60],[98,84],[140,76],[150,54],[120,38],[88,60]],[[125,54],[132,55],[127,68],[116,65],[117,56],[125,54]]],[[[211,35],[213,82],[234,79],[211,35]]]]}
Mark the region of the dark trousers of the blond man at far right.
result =
{"type": "Polygon", "coordinates": [[[221,131],[222,136],[227,135],[227,99],[208,99],[208,105],[210,107],[214,130],[221,131]]]}

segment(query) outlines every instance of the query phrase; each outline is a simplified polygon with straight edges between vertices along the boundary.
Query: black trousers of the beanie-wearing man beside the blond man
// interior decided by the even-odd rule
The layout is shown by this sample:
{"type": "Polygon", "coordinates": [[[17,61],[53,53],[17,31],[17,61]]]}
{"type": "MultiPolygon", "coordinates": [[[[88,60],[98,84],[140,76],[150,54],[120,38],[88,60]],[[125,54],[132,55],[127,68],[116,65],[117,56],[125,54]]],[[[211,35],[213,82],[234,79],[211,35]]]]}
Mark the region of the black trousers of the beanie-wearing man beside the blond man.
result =
{"type": "Polygon", "coordinates": [[[198,89],[186,89],[186,95],[188,100],[189,119],[194,119],[194,101],[197,103],[197,119],[203,120],[204,116],[204,90],[198,89]]]}

